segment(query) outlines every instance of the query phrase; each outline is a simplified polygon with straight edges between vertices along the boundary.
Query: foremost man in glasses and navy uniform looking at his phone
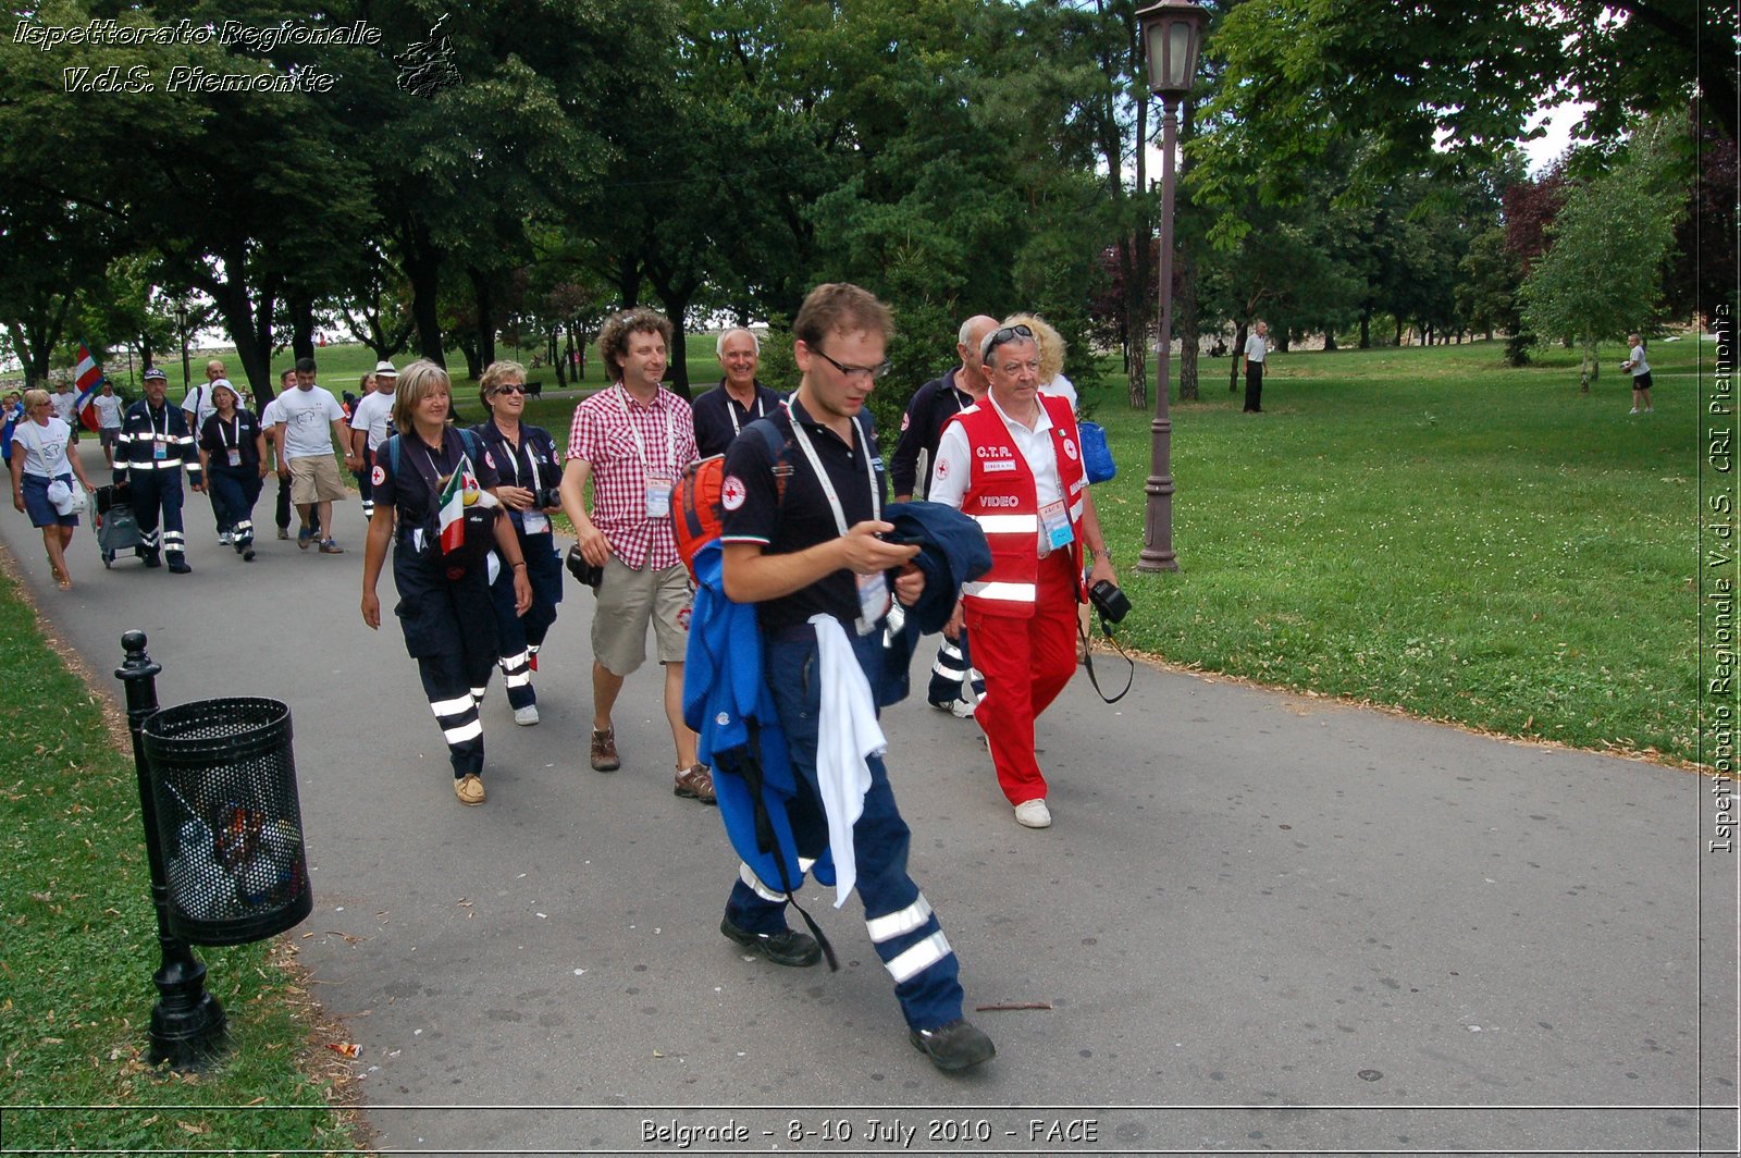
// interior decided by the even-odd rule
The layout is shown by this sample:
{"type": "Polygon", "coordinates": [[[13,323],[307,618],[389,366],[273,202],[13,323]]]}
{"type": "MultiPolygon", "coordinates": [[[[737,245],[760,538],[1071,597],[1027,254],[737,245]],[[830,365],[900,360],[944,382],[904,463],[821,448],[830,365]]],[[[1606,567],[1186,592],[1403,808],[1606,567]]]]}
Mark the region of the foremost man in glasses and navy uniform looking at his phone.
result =
{"type": "MultiPolygon", "coordinates": [[[[726,451],[721,484],[724,590],[736,603],[757,604],[766,641],[763,674],[799,791],[808,789],[818,801],[811,811],[817,817],[825,799],[818,764],[825,771],[837,768],[834,754],[844,738],[822,730],[822,686],[843,684],[841,674],[830,670],[830,656],[857,660],[876,697],[884,686],[890,592],[911,604],[924,587],[924,575],[911,564],[919,549],[879,538],[893,524],[881,517],[883,460],[864,404],[888,371],[891,331],[888,306],[858,286],[813,289],[792,324],[792,353],[803,378],[789,409],[764,420],[775,427],[773,444],[783,444],[787,453],[775,461],[770,439],[738,439],[726,451]],[[886,576],[897,569],[891,583],[886,576]],[[822,622],[811,623],[811,616],[822,622]]],[[[870,704],[864,707],[874,712],[870,704]]],[[[853,717],[851,726],[862,723],[853,717]]],[[[907,876],[911,832],[883,759],[864,756],[862,768],[869,789],[864,811],[851,822],[850,848],[841,848],[844,832],[836,832],[829,848],[837,869],[843,853],[855,864],[865,928],[895,979],[909,1040],[945,1073],[970,1069],[996,1050],[961,1017],[959,965],[930,902],[907,876]]],[[[815,846],[817,834],[804,843],[815,846]]],[[[776,965],[815,965],[820,947],[787,928],[787,902],[778,885],[757,879],[745,865],[721,932],[776,965]]]]}

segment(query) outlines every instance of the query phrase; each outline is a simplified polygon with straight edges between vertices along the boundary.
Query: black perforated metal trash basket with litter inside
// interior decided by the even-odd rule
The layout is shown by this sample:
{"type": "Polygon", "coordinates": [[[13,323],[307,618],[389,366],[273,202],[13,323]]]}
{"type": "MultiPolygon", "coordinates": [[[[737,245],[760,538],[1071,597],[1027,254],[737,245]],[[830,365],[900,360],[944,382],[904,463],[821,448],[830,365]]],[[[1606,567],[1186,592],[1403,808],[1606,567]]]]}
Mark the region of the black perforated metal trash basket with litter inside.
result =
{"type": "Polygon", "coordinates": [[[169,919],[198,946],[240,946],[313,909],[291,752],[291,709],[219,698],[145,721],[169,919]]]}

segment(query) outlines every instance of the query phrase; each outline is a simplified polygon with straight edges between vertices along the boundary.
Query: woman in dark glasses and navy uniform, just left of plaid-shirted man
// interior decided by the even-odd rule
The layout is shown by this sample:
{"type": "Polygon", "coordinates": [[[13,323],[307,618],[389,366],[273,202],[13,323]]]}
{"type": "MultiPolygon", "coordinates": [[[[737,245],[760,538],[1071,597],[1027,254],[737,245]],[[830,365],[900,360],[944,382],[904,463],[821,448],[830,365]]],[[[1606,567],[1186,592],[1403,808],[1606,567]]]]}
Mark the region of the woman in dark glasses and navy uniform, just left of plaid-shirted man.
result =
{"type": "Polygon", "coordinates": [[[538,503],[541,491],[555,498],[562,482],[555,441],[543,427],[521,425],[526,409],[526,367],[519,362],[491,362],[479,383],[479,399],[489,411],[489,421],[472,427],[484,448],[496,460],[501,486],[496,498],[508,512],[508,522],[521,540],[521,557],[526,559],[526,578],[533,585],[533,606],[519,615],[514,609],[514,576],[503,569],[489,585],[496,603],[496,634],[501,653],[501,676],[508,686],[508,707],[514,723],[538,723],[538,693],[533,690],[533,672],[538,670],[538,648],[543,646],[550,625],[555,623],[555,604],[562,603],[562,561],[555,554],[555,536],[550,531],[550,512],[561,503],[538,503]]]}

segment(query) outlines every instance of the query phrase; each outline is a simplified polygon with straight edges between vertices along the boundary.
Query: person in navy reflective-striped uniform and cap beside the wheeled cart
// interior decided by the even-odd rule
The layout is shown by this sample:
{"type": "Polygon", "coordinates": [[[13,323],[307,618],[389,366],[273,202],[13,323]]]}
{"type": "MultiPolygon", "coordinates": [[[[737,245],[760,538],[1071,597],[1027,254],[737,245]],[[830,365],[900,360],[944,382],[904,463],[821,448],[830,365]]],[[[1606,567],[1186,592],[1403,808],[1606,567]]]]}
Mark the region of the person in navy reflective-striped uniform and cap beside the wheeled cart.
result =
{"type": "Polygon", "coordinates": [[[188,486],[205,491],[200,453],[181,407],[167,406],[169,380],[155,366],[145,371],[145,397],[127,407],[115,435],[115,486],[127,488],[127,502],[139,521],[139,557],[145,566],[162,566],[186,575],[186,536],[181,533],[181,470],[188,486]],[[162,521],[162,528],[158,528],[162,521]]]}

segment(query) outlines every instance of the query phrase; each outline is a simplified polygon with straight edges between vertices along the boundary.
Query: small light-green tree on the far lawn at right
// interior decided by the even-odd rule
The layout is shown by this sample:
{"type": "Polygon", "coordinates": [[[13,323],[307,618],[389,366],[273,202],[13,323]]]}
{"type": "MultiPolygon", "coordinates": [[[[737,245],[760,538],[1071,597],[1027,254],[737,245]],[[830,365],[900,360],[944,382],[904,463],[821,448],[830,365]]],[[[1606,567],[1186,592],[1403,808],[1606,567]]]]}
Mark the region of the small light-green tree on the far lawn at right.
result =
{"type": "Polygon", "coordinates": [[[1640,125],[1624,164],[1570,186],[1548,252],[1523,282],[1523,324],[1577,343],[1584,390],[1596,374],[1596,343],[1647,329],[1663,298],[1663,265],[1684,204],[1675,155],[1673,122],[1640,125]]]}

